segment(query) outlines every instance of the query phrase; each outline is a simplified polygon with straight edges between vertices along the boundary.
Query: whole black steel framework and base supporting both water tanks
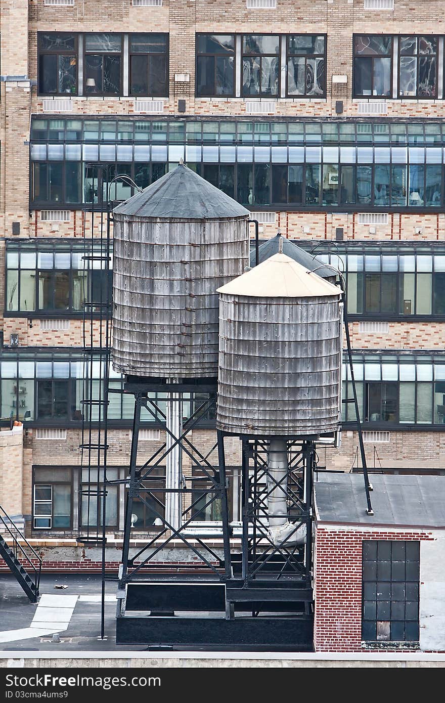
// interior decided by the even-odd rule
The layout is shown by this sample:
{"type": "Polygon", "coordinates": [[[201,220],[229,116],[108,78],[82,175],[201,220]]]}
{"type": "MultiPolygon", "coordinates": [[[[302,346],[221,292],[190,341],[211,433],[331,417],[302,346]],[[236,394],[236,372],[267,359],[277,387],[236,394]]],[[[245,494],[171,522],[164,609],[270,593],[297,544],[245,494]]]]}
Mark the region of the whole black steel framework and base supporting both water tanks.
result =
{"type": "MultiPolygon", "coordinates": [[[[204,456],[197,462],[205,465],[212,484],[210,500],[221,501],[224,551],[217,554],[205,539],[191,538],[190,520],[183,514],[176,529],[165,523],[163,531],[135,554],[130,547],[131,500],[134,496],[155,496],[146,481],[150,466],[160,460],[154,453],[144,466],[136,465],[141,406],[156,408],[155,392],[176,394],[202,391],[209,394],[207,407],[216,403],[216,380],[171,380],[127,377],[123,391],[134,395],[135,414],[132,436],[129,501],[120,586],[118,591],[116,638],[120,645],[148,647],[217,647],[226,650],[292,650],[311,651],[313,608],[311,588],[311,546],[288,550],[271,544],[264,530],[265,490],[259,489],[264,479],[266,439],[243,437],[242,501],[243,526],[233,529],[229,520],[226,494],[226,460],[223,432],[217,432],[218,463],[209,463],[204,456]],[[172,536],[191,548],[198,560],[190,567],[169,569],[155,563],[156,554],[169,545],[172,536]]],[[[205,404],[203,408],[205,409],[205,404]]],[[[201,410],[203,410],[201,408],[201,410]]],[[[181,437],[175,437],[183,451],[199,450],[188,439],[188,431],[198,422],[199,413],[184,423],[181,437]]],[[[165,423],[162,423],[165,427],[165,423]]],[[[289,498],[294,501],[299,522],[307,524],[311,535],[311,478],[305,473],[314,470],[313,443],[290,441],[289,498]],[[304,497],[306,495],[306,498],[304,497]]],[[[264,483],[264,482],[263,482],[264,483]]],[[[181,486],[181,500],[190,491],[181,486]]],[[[143,499],[143,498],[142,498],[143,499]]]]}

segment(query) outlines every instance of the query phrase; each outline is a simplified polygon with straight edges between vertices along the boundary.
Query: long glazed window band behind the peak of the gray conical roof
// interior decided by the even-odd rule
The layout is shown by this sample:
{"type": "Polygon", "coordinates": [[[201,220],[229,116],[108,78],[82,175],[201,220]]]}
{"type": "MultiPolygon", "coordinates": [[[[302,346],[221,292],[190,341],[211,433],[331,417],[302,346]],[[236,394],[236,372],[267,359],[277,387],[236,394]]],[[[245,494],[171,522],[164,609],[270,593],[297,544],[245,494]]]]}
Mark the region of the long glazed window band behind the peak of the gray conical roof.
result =
{"type": "MultiPolygon", "coordinates": [[[[445,129],[432,119],[344,124],[38,117],[32,120],[32,203],[79,209],[83,200],[103,207],[115,174],[128,174],[144,188],[183,157],[251,207],[432,212],[444,204],[444,144],[445,129]]],[[[131,193],[123,183],[111,188],[116,200],[131,193]]]]}

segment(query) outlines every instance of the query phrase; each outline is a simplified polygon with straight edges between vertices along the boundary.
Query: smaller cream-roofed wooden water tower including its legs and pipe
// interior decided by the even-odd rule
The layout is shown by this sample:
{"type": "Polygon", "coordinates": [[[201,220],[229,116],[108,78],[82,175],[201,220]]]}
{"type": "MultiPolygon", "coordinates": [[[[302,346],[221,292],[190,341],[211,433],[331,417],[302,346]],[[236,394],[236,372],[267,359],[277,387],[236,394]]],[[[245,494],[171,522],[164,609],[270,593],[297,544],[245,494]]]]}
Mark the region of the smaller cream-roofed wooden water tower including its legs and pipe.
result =
{"type": "Polygon", "coordinates": [[[340,430],[343,303],[283,243],[219,288],[217,429],[243,441],[245,583],[272,549],[278,573],[305,563],[309,587],[315,440],[340,430]]]}

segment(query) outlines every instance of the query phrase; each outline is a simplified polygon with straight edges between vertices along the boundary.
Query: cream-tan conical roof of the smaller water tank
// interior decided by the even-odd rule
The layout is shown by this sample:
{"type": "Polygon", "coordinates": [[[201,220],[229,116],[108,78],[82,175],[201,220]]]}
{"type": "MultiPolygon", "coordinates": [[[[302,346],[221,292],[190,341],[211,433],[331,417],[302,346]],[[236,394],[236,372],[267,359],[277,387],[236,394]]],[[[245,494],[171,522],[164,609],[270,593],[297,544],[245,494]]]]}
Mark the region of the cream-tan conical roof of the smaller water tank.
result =
{"type": "Polygon", "coordinates": [[[341,293],[340,288],[308,271],[286,254],[274,254],[221,286],[217,292],[257,298],[338,297],[341,293]]]}

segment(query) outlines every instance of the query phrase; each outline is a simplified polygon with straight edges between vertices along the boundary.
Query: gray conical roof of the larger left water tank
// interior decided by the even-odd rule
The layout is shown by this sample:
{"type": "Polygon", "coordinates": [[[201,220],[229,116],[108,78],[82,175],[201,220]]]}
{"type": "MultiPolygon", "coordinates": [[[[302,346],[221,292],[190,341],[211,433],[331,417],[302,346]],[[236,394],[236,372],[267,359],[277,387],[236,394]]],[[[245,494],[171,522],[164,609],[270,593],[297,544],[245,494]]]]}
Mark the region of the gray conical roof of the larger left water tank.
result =
{"type": "Polygon", "coordinates": [[[224,219],[247,217],[249,211],[219,188],[179,164],[162,178],[125,200],[115,214],[129,217],[224,219]]]}

